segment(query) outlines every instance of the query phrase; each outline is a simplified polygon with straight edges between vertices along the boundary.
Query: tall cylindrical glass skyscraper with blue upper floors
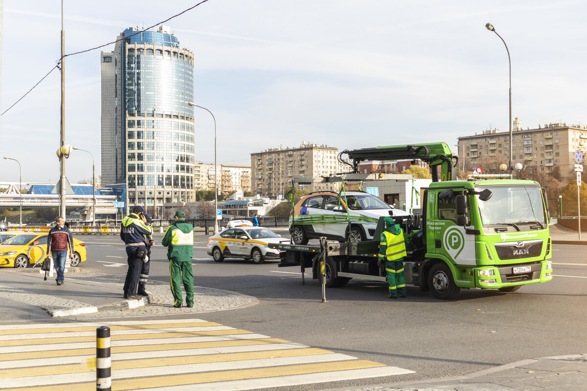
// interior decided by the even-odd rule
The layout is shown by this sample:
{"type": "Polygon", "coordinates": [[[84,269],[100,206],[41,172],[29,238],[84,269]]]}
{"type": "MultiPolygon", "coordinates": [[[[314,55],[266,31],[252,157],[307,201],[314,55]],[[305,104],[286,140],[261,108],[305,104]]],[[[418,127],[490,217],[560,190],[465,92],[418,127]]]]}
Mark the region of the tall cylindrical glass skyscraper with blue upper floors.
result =
{"type": "Polygon", "coordinates": [[[167,26],[129,28],[102,52],[102,183],[129,205],[189,202],[194,192],[194,53],[167,26]]]}

